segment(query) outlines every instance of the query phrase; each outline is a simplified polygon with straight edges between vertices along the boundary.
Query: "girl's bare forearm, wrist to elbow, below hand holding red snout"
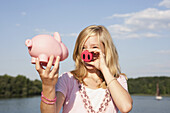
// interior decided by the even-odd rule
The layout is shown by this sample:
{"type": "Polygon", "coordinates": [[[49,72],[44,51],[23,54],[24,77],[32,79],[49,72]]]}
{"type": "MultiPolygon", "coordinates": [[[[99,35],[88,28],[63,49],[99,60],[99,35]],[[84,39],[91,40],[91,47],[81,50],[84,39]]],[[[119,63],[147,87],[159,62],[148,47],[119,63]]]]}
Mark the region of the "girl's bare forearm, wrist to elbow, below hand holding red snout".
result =
{"type": "Polygon", "coordinates": [[[132,109],[133,100],[130,94],[120,85],[107,67],[103,67],[101,72],[108,84],[112,99],[121,113],[128,113],[132,109]]]}

